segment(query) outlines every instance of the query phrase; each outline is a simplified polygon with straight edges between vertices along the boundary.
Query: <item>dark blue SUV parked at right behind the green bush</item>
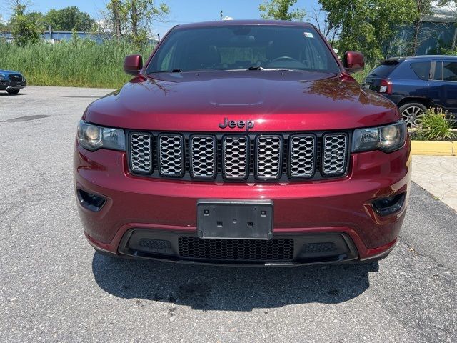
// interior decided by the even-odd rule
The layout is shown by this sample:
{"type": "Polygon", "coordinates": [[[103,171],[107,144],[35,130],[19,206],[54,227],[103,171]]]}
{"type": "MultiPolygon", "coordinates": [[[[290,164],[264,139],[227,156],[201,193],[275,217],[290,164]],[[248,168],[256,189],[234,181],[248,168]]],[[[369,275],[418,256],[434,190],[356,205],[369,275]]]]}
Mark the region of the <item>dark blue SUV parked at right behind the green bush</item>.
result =
{"type": "Polygon", "coordinates": [[[408,127],[420,123],[428,107],[441,107],[448,119],[457,112],[457,56],[395,57],[383,61],[363,86],[393,101],[408,127]]]}

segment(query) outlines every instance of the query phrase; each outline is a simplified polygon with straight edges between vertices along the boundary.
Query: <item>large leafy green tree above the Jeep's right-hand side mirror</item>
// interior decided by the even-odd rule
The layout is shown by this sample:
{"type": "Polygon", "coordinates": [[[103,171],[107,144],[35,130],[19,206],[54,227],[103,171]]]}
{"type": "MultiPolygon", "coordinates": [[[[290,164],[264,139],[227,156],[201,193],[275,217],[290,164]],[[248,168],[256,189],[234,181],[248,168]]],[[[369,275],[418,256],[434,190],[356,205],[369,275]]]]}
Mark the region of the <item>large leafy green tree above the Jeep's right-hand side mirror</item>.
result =
{"type": "Polygon", "coordinates": [[[318,0],[340,29],[338,50],[362,51],[370,63],[385,56],[399,26],[416,19],[415,0],[318,0]]]}

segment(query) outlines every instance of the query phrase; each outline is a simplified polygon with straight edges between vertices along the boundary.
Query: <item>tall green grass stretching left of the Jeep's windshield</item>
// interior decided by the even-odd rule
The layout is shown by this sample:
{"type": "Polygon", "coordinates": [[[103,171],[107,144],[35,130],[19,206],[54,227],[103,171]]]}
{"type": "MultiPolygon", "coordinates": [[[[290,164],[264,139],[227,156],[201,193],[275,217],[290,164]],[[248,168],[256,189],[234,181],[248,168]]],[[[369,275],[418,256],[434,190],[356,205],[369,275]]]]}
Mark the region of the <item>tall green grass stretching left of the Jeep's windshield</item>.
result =
{"type": "Polygon", "coordinates": [[[29,84],[119,88],[130,77],[122,64],[129,54],[149,56],[127,41],[96,44],[88,39],[16,46],[0,41],[0,68],[21,71],[29,84]]]}

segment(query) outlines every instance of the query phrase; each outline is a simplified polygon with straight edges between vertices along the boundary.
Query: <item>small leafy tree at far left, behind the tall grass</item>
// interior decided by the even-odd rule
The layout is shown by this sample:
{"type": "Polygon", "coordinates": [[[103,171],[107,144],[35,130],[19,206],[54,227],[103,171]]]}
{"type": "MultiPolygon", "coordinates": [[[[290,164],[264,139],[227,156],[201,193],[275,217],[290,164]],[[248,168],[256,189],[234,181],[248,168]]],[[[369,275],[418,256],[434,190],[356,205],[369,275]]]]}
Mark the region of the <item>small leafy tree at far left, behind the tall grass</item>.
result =
{"type": "Polygon", "coordinates": [[[25,46],[39,41],[41,30],[39,23],[36,22],[37,16],[36,14],[26,14],[28,3],[22,0],[11,0],[10,6],[13,15],[9,21],[9,26],[14,43],[25,46]]]}

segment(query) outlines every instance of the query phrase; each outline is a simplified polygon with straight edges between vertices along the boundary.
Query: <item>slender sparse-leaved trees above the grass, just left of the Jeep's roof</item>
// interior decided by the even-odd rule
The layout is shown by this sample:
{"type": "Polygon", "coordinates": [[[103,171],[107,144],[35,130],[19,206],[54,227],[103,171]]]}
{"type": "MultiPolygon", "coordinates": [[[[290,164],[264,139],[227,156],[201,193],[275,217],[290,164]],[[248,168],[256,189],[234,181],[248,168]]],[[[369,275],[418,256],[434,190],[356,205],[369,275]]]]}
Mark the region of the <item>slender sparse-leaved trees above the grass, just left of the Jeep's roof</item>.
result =
{"type": "Polygon", "coordinates": [[[169,14],[166,4],[156,4],[154,0],[110,0],[106,10],[106,19],[116,37],[129,36],[139,45],[147,41],[154,21],[164,21],[169,14]]]}

